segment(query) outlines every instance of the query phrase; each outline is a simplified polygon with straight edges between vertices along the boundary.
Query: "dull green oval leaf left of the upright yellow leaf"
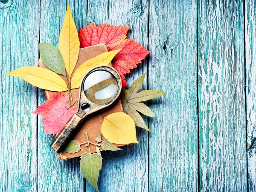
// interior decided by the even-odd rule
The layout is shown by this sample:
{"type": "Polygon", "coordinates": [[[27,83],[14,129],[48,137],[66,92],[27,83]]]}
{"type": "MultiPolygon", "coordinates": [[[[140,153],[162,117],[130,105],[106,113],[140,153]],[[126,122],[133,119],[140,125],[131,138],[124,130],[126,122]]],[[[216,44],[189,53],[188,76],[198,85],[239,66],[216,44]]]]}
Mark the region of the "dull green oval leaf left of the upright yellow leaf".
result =
{"type": "Polygon", "coordinates": [[[64,60],[58,47],[49,43],[40,43],[39,50],[44,64],[52,71],[66,77],[64,60]]]}

